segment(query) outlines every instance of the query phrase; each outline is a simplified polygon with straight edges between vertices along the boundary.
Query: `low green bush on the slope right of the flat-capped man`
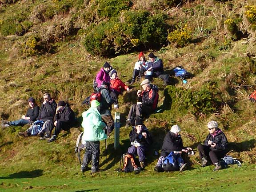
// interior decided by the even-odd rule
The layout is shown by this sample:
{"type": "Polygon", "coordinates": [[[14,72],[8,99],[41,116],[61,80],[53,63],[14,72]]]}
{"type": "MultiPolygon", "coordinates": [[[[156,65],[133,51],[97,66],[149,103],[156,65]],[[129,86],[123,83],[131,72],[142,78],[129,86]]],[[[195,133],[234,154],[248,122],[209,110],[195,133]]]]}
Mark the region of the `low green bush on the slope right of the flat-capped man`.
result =
{"type": "Polygon", "coordinates": [[[209,84],[203,85],[200,90],[169,87],[168,93],[172,98],[171,111],[181,114],[211,114],[220,107],[218,92],[212,90],[209,84]]]}

